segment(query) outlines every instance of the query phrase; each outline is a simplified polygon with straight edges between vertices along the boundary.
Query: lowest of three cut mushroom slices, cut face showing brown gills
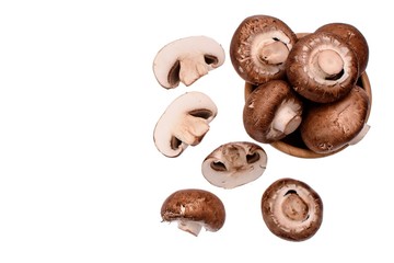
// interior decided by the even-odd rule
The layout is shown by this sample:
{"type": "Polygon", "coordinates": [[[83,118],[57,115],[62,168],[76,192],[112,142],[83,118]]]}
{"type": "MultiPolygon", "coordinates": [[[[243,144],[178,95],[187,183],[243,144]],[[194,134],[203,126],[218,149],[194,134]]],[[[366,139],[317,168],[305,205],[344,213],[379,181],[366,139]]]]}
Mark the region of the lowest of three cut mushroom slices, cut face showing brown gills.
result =
{"type": "Polygon", "coordinates": [[[267,165],[264,149],[253,142],[221,145],[202,161],[205,179],[218,187],[234,188],[258,179],[267,165]]]}

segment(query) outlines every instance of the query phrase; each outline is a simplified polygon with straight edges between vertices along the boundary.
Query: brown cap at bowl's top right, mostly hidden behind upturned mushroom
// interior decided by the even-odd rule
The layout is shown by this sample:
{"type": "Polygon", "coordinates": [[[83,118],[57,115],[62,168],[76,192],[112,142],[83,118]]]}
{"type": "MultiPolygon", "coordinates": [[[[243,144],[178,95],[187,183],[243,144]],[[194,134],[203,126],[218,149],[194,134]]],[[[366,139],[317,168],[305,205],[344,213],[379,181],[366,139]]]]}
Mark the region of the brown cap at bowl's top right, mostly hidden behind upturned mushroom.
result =
{"type": "Polygon", "coordinates": [[[359,62],[359,73],[366,71],[369,59],[369,46],[366,37],[354,25],[347,23],[329,23],[322,25],[316,32],[331,32],[345,39],[345,42],[354,49],[359,62]]]}

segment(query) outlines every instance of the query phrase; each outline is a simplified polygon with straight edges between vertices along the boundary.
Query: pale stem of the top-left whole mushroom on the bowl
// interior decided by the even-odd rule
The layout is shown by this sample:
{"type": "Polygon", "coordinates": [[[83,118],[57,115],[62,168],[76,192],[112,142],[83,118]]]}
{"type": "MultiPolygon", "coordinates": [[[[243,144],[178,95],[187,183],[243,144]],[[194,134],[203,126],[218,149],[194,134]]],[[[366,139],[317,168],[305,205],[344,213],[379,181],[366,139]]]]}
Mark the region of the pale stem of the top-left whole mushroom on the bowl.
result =
{"type": "Polygon", "coordinates": [[[274,41],[262,47],[259,59],[270,65],[279,65],[286,61],[288,55],[288,47],[280,41],[274,41]]]}

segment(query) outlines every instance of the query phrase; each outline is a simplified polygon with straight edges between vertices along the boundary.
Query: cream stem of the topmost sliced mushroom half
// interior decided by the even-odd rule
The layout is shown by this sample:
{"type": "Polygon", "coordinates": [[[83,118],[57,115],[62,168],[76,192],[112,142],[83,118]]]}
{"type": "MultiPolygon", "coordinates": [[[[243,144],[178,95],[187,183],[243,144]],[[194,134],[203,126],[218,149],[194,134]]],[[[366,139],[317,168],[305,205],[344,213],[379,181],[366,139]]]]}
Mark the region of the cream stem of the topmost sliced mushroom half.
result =
{"type": "Polygon", "coordinates": [[[210,69],[204,56],[199,54],[183,58],[179,60],[179,80],[185,85],[193,84],[197,79],[207,75],[210,69]]]}

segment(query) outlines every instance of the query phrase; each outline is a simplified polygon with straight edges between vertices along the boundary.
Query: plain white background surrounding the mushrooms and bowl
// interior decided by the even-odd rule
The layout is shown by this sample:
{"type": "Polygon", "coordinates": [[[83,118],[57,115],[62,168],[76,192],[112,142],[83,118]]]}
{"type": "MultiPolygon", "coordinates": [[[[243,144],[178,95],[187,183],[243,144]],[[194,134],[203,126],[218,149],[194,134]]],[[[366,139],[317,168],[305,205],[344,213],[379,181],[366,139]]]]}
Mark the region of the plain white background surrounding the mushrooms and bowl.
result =
{"type": "MultiPolygon", "coordinates": [[[[384,1],[384,4],[389,1],[384,1]]],[[[0,262],[393,262],[394,24],[383,3],[352,1],[1,1],[0,262]],[[233,31],[268,14],[294,32],[354,24],[370,46],[369,134],[327,158],[264,145],[266,172],[234,190],[210,185],[202,159],[243,129],[243,81],[228,56],[233,31]],[[165,90],[152,61],[166,43],[207,35],[224,65],[192,87],[165,90]],[[178,158],[152,140],[165,107],[205,92],[219,113],[202,142],[178,158]],[[320,193],[324,220],[303,242],[269,232],[260,197],[277,179],[320,193]],[[227,208],[218,232],[194,237],[161,221],[172,192],[199,187],[227,208]]]]}

